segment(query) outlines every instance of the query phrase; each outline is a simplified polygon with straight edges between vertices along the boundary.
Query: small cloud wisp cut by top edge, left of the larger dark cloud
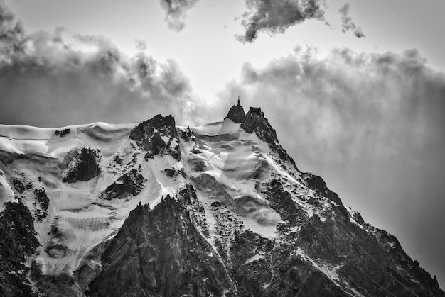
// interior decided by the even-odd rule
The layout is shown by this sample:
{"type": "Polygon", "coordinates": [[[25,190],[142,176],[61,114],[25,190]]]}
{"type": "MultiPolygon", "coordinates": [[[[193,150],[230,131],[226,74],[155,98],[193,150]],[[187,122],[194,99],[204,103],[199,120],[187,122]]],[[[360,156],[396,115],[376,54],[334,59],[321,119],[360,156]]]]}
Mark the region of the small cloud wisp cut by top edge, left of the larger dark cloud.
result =
{"type": "Polygon", "coordinates": [[[162,8],[166,11],[168,28],[181,31],[186,26],[188,9],[191,9],[198,0],[160,0],[162,8]]]}

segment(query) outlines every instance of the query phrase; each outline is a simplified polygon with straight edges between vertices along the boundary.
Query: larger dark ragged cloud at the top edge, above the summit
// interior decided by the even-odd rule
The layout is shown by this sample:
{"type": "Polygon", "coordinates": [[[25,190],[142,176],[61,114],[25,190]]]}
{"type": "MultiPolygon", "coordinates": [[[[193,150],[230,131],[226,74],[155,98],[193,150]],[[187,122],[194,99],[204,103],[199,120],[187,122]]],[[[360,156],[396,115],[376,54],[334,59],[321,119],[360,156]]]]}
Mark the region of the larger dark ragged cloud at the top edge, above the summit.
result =
{"type": "Polygon", "coordinates": [[[241,16],[244,35],[237,35],[242,43],[254,41],[258,32],[271,35],[284,33],[290,26],[310,18],[324,20],[324,0],[245,0],[241,16]]]}

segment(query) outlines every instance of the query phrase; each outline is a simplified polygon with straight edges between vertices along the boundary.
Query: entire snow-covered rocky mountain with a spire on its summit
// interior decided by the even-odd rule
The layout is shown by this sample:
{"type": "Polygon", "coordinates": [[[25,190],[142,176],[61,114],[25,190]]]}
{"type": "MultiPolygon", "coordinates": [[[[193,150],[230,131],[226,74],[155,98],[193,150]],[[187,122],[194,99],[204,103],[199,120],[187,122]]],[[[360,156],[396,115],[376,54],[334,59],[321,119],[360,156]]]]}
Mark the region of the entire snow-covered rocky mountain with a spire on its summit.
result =
{"type": "Polygon", "coordinates": [[[1,296],[445,296],[260,108],[0,135],[1,296]]]}

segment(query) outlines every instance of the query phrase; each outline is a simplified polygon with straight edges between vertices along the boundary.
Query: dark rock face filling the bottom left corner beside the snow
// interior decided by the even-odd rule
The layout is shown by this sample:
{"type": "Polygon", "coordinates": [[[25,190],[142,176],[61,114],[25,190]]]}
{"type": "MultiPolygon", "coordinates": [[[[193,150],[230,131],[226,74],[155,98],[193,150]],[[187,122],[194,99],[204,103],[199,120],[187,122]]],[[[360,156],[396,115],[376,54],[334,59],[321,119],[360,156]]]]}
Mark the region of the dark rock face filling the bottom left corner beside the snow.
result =
{"type": "Polygon", "coordinates": [[[36,252],[33,218],[19,201],[5,203],[0,213],[0,296],[34,296],[26,274],[26,256],[36,252]]]}

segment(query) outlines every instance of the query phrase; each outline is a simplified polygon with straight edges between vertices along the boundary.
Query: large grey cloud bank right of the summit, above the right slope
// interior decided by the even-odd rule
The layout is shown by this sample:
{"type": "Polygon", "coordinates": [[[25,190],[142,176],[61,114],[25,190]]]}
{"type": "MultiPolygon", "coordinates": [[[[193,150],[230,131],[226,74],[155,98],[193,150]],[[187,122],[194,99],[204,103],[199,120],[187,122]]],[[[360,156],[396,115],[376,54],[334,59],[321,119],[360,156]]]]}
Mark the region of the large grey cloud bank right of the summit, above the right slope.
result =
{"type": "Polygon", "coordinates": [[[245,107],[262,107],[300,169],[323,176],[346,205],[395,233],[445,280],[445,240],[437,236],[445,223],[444,73],[417,50],[336,49],[320,58],[298,49],[262,69],[244,65],[242,80],[220,97],[235,102],[237,94],[245,107]]]}

